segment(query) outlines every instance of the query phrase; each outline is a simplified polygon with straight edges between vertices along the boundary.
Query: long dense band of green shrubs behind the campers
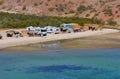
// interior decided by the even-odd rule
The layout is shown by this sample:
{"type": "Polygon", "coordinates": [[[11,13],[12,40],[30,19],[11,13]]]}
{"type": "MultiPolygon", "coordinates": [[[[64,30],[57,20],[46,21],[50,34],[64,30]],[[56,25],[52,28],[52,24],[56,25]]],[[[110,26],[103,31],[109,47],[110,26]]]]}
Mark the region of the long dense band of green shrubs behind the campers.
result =
{"type": "Polygon", "coordinates": [[[35,16],[24,14],[9,14],[0,12],[0,27],[2,28],[25,28],[28,26],[46,25],[59,27],[63,23],[101,24],[101,20],[78,18],[78,17],[53,17],[53,16],[35,16]]]}

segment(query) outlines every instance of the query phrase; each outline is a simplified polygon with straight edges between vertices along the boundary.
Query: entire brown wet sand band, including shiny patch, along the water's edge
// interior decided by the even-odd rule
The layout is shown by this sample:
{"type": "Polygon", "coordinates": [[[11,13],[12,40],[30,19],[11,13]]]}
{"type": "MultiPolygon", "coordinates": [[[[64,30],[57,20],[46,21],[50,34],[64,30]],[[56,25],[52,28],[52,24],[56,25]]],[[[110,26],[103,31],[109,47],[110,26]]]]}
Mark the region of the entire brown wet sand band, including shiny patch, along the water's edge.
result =
{"type": "Polygon", "coordinates": [[[114,49],[120,48],[120,32],[53,41],[46,43],[29,44],[24,46],[10,47],[2,51],[38,51],[38,50],[61,50],[61,49],[114,49]]]}

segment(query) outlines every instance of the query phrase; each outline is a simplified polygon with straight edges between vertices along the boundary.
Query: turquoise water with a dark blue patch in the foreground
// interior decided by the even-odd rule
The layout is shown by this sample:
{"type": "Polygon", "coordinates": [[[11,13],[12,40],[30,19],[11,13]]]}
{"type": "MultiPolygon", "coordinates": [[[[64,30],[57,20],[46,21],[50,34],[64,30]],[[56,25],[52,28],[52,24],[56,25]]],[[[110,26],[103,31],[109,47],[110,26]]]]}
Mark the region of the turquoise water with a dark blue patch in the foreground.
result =
{"type": "Polygon", "coordinates": [[[120,49],[0,52],[0,79],[120,79],[120,49]]]}

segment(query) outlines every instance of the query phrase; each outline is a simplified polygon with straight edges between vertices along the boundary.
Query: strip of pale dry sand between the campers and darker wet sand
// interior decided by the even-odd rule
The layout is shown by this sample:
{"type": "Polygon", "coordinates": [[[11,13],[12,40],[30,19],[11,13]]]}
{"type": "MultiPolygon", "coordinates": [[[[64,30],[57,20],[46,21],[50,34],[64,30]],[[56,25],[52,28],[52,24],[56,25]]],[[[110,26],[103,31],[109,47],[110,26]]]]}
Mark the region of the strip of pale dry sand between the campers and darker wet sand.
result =
{"type": "Polygon", "coordinates": [[[58,40],[66,40],[66,39],[76,39],[88,36],[96,36],[103,35],[109,33],[117,33],[119,30],[113,29],[103,29],[102,31],[85,31],[85,32],[77,32],[77,33],[67,33],[67,34],[49,34],[45,37],[20,37],[20,38],[7,38],[0,40],[0,49],[28,45],[34,43],[44,43],[50,41],[58,41],[58,40]]]}

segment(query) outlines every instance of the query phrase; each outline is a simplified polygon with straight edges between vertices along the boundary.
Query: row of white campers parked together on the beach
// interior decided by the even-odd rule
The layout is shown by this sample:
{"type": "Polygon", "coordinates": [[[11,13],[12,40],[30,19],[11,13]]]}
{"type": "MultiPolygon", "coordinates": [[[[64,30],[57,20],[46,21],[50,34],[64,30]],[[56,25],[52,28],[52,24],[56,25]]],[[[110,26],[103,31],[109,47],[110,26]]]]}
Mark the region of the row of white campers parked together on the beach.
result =
{"type": "Polygon", "coordinates": [[[47,36],[47,33],[54,33],[54,34],[58,34],[60,32],[60,29],[57,27],[52,27],[52,26],[47,26],[44,28],[40,28],[40,27],[27,27],[26,29],[27,31],[34,31],[36,35],[39,36],[47,36]]]}

